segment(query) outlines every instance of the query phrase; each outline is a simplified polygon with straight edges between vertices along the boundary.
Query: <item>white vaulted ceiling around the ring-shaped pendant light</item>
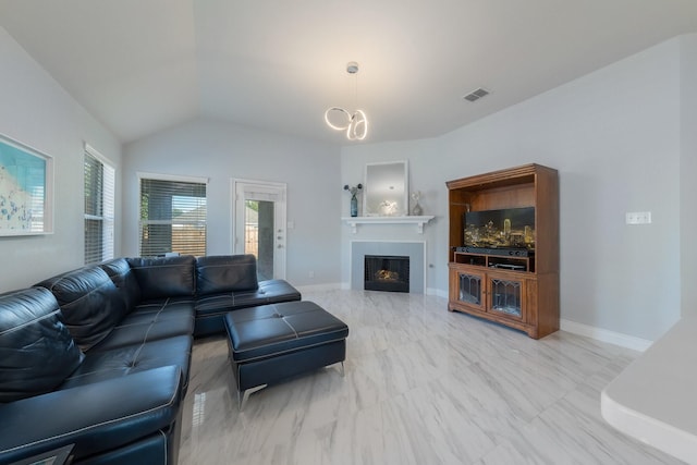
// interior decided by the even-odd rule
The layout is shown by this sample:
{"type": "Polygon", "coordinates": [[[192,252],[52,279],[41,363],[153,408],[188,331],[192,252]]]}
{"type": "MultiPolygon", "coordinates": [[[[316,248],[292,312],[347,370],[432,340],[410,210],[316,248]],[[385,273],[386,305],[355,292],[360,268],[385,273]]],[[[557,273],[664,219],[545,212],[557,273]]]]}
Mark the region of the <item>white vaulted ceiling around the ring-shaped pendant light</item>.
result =
{"type": "Polygon", "coordinates": [[[124,143],[210,118],[344,144],[328,107],[441,135],[696,33],[697,1],[0,0],[0,26],[124,143]]]}

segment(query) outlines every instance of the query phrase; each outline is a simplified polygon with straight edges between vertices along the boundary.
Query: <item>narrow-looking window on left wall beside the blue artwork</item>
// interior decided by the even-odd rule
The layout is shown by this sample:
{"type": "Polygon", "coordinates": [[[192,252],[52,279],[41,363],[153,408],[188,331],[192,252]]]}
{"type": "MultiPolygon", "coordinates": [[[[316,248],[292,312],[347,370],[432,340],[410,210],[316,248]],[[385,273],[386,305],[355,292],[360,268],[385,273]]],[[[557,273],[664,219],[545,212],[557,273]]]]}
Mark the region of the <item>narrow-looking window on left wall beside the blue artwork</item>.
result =
{"type": "Polygon", "coordinates": [[[115,170],[85,144],[85,264],[113,258],[115,170]]]}

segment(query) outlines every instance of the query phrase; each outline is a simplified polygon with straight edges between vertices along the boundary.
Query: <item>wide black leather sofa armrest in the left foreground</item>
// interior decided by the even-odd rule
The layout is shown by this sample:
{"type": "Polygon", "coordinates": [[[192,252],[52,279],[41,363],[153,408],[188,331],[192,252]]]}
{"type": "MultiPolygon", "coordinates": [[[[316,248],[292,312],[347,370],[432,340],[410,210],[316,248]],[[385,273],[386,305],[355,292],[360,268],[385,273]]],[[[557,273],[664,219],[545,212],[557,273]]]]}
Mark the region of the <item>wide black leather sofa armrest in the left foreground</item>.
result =
{"type": "Polygon", "coordinates": [[[181,395],[180,368],[166,366],[0,404],[0,463],[68,444],[80,458],[167,430],[181,395]]]}

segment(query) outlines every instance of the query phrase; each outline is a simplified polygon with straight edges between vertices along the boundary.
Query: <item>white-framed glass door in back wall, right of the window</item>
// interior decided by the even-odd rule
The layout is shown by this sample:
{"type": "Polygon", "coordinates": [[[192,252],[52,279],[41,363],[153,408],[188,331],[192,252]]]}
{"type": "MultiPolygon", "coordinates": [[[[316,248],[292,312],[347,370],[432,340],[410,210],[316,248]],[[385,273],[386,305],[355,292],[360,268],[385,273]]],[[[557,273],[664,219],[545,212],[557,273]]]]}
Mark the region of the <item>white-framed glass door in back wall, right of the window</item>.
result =
{"type": "Polygon", "coordinates": [[[285,184],[232,183],[234,253],[257,257],[259,280],[285,279],[285,184]]]}

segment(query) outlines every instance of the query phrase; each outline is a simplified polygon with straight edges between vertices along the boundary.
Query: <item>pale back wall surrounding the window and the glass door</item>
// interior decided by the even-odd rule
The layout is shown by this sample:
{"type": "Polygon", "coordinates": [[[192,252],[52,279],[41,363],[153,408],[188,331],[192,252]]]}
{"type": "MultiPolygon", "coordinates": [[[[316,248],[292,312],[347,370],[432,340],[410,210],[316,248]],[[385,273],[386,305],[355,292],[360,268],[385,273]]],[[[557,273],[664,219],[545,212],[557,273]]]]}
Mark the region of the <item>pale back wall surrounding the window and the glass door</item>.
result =
{"type": "Polygon", "coordinates": [[[286,279],[340,282],[339,148],[217,121],[196,121],[124,148],[124,255],[138,254],[138,171],[208,178],[207,254],[232,253],[231,179],[288,184],[286,279]],[[205,162],[201,162],[205,160],[205,162]],[[315,278],[309,278],[314,271],[315,278]]]}

